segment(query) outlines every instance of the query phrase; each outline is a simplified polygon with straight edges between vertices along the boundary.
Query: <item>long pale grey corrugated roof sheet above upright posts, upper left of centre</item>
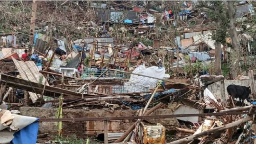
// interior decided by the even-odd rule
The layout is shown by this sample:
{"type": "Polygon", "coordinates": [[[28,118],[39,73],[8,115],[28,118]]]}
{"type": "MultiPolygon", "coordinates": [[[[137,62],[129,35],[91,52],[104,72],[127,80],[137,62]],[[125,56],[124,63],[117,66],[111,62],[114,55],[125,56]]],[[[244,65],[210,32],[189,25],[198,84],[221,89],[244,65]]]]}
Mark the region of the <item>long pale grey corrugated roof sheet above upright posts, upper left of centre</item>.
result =
{"type": "MultiPolygon", "coordinates": [[[[83,41],[82,39],[78,39],[74,41],[74,45],[79,45],[81,42],[87,42],[87,43],[92,43],[93,41],[98,40],[99,45],[109,45],[114,46],[114,37],[90,37],[90,38],[84,38],[83,41]]],[[[79,46],[83,46],[83,44],[80,44],[79,46]]],[[[93,45],[88,44],[88,49],[91,49],[93,45]]],[[[101,46],[99,46],[101,47],[101,46]]]]}

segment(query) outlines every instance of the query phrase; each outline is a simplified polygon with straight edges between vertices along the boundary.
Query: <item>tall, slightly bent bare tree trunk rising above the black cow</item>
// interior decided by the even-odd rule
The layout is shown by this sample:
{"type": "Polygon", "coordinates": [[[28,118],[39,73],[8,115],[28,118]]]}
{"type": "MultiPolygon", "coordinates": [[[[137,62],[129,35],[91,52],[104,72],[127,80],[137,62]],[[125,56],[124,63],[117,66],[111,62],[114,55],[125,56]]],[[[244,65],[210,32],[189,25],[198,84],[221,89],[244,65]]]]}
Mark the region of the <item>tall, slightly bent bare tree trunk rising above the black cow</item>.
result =
{"type": "Polygon", "coordinates": [[[235,1],[228,1],[228,14],[229,14],[229,34],[232,40],[233,52],[231,54],[231,65],[230,65],[230,78],[235,79],[237,77],[238,60],[241,57],[240,43],[238,39],[238,33],[236,30],[236,11],[234,8],[235,1]]]}

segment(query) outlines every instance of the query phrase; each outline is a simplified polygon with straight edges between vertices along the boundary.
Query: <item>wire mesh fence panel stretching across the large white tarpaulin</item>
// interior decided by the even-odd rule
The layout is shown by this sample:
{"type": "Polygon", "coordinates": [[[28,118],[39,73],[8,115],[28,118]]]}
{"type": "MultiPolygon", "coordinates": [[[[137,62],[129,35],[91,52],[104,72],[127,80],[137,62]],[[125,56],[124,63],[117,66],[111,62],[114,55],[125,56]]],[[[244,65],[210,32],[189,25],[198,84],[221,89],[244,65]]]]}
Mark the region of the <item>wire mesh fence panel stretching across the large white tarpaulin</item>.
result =
{"type": "Polygon", "coordinates": [[[96,84],[90,85],[89,91],[106,94],[128,94],[128,93],[148,93],[155,89],[157,83],[165,87],[164,81],[157,78],[149,78],[130,74],[127,72],[113,70],[84,70],[84,79],[97,79],[96,84]],[[111,82],[112,81],[112,82],[111,82]]]}

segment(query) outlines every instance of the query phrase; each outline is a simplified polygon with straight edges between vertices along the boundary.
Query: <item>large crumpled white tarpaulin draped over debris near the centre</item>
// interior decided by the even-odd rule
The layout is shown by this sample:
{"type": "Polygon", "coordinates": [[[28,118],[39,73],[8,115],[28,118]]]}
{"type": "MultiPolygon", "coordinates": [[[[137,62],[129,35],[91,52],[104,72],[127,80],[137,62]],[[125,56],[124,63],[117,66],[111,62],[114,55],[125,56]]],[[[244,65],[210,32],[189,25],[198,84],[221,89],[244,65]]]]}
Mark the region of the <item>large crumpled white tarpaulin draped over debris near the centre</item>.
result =
{"type": "MultiPolygon", "coordinates": [[[[165,68],[156,66],[146,68],[143,64],[138,66],[132,73],[163,79],[165,77],[165,68]]],[[[149,91],[150,88],[155,88],[157,81],[157,79],[131,74],[130,80],[124,84],[124,88],[127,92],[149,91]]]]}

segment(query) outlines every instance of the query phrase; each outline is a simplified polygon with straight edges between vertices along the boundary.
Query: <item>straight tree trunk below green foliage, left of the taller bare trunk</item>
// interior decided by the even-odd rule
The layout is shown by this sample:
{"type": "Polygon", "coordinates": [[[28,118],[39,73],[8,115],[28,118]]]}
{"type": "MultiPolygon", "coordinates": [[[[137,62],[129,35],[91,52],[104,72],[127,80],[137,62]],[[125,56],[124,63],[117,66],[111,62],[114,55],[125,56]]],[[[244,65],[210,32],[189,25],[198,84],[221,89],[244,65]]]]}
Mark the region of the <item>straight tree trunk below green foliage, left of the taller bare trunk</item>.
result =
{"type": "Polygon", "coordinates": [[[221,43],[215,42],[215,74],[222,75],[221,72],[221,43]]]}

